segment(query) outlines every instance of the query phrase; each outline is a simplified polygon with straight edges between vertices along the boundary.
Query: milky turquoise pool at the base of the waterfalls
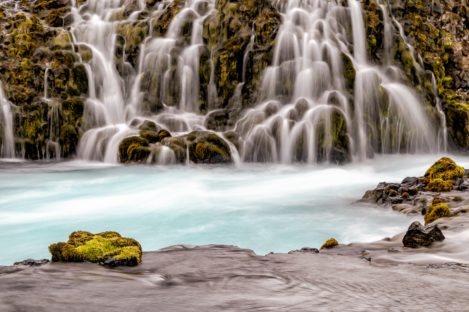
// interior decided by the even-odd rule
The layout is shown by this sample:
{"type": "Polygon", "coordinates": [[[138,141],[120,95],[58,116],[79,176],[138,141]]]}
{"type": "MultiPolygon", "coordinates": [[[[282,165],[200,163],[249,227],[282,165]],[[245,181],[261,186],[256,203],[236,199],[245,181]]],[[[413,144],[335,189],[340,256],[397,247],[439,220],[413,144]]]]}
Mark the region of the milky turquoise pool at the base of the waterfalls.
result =
{"type": "MultiPolygon", "coordinates": [[[[469,167],[469,158],[451,156],[469,167]]],[[[423,216],[354,203],[381,181],[421,176],[440,155],[380,155],[346,166],[108,166],[0,161],[0,265],[50,258],[68,234],[117,231],[144,250],[228,244],[256,254],[371,242],[423,216]]],[[[461,236],[461,240],[467,238],[461,236]]]]}

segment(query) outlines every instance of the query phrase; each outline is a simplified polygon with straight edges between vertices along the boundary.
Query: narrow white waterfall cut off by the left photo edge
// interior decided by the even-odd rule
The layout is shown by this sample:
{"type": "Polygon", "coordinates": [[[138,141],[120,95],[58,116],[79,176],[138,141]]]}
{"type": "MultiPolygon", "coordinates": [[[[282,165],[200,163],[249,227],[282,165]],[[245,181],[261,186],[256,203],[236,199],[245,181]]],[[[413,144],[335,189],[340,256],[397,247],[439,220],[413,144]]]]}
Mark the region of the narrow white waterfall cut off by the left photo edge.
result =
{"type": "Polygon", "coordinates": [[[5,97],[3,85],[0,81],[0,117],[2,125],[2,140],[1,140],[1,158],[14,158],[15,157],[15,138],[13,136],[13,113],[11,107],[13,104],[5,97]]]}

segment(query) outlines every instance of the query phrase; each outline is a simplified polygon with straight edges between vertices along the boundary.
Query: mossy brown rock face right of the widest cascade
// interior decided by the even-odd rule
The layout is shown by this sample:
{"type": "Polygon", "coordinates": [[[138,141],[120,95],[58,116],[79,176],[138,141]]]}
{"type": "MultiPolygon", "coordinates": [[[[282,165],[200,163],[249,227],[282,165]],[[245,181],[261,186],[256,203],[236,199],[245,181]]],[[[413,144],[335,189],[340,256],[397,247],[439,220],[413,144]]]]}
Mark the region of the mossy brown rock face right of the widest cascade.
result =
{"type": "MultiPolygon", "coordinates": [[[[406,40],[415,47],[414,58],[433,73],[446,115],[448,144],[469,151],[469,8],[464,0],[393,1],[393,13],[401,22],[406,40]]],[[[399,53],[398,53],[399,54],[399,53]]],[[[408,58],[408,53],[407,57],[408,58]]],[[[397,55],[397,54],[396,54],[397,55]]],[[[431,80],[402,62],[412,84],[421,86],[432,105],[431,80]]]]}

